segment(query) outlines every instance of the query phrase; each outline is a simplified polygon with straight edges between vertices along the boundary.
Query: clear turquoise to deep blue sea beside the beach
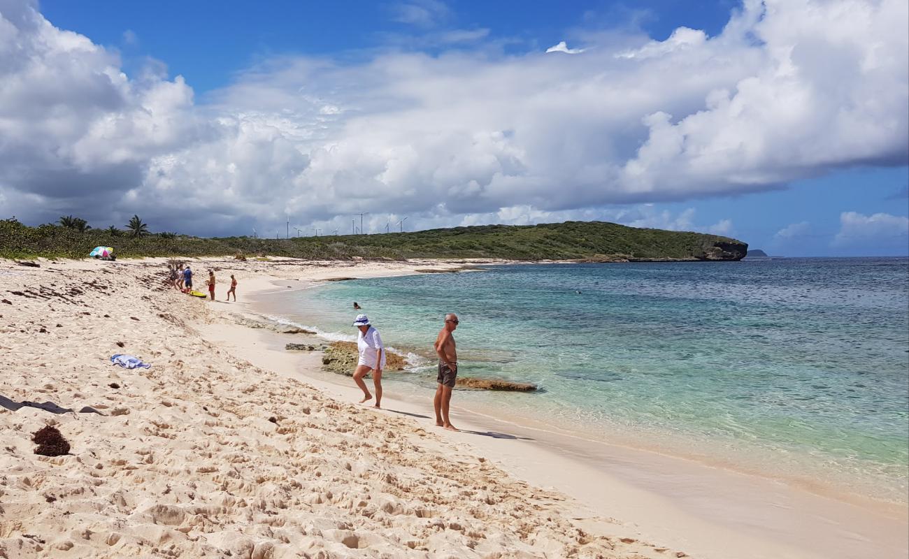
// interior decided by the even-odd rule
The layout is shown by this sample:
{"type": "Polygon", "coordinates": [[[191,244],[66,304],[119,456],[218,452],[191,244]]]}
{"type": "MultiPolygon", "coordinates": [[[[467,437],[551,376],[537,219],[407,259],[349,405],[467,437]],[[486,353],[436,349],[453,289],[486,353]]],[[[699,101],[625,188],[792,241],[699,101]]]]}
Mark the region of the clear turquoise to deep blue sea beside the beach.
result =
{"type": "Polygon", "coordinates": [[[388,389],[434,388],[432,344],[454,312],[460,374],[541,388],[456,403],[906,500],[906,258],[501,265],[274,297],[275,314],[335,339],[352,339],[361,304],[416,363],[388,389]]]}

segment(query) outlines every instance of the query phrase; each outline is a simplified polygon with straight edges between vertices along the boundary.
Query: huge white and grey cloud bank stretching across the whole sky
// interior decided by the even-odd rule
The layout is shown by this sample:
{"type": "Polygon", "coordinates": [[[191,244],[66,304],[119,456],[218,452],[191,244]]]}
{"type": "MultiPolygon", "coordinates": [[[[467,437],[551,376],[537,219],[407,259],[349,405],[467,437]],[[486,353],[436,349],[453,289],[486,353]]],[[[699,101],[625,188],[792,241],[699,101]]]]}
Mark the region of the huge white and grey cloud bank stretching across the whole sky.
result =
{"type": "MultiPolygon", "coordinates": [[[[449,16],[406,6],[414,25],[449,16]]],[[[907,17],[904,0],[747,0],[720,35],[592,32],[584,56],[503,55],[479,30],[434,55],[275,57],[198,105],[163,65],[127,76],[34,2],[0,0],[0,195],[25,220],[140,213],[221,234],[289,213],[345,231],[360,211],[412,226],[618,215],[602,208],[905,165],[907,17]]],[[[693,213],[621,223],[693,229],[693,213]]]]}

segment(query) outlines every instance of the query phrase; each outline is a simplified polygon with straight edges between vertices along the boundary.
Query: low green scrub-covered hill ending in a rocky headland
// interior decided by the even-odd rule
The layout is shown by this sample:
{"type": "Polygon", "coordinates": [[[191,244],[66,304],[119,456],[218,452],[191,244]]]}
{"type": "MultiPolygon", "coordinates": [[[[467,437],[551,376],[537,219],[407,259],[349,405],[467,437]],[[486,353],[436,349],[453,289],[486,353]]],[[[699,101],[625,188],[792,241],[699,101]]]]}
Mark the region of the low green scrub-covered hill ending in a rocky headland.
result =
{"type": "Polygon", "coordinates": [[[748,245],[734,239],[604,222],[477,225],[384,235],[292,239],[203,238],[174,234],[130,237],[106,229],[84,233],[59,225],[30,227],[0,220],[0,257],[82,258],[96,245],[120,257],[275,255],[313,259],[505,258],[511,260],[740,260],[748,245]]]}

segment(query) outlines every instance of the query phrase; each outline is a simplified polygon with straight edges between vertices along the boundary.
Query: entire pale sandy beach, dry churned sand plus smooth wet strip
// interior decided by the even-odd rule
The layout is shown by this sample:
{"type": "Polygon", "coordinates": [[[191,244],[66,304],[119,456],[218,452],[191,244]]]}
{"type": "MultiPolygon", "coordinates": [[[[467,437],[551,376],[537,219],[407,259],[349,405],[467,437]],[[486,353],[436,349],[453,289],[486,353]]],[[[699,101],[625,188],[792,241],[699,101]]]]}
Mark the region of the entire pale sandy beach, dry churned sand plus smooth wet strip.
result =
{"type": "Polygon", "coordinates": [[[475,410],[440,432],[428,398],[352,404],[317,352],[284,351],[299,335],[249,327],[253,293],[460,264],[191,262],[222,297],[235,273],[240,303],[167,290],[153,259],[0,261],[0,557],[906,554],[903,511],[475,410]],[[45,424],[69,455],[33,454],[45,424]]]}

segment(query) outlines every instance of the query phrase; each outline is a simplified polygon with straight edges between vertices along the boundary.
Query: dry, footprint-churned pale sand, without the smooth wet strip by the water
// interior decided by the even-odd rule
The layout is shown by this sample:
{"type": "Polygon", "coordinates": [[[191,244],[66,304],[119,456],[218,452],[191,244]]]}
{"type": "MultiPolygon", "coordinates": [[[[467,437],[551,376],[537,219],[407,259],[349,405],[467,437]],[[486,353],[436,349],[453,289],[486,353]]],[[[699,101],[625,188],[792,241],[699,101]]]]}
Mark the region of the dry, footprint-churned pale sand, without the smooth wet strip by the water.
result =
{"type": "MultiPolygon", "coordinates": [[[[283,265],[195,271],[229,267],[241,300],[266,272],[343,272],[283,265]]],[[[0,262],[0,556],[683,556],[414,417],[335,400],[207,341],[199,328],[235,327],[241,305],[163,277],[152,259],[0,262]],[[122,369],[115,353],[152,366],[122,369]],[[34,454],[45,425],[69,454],[34,454]]]]}

